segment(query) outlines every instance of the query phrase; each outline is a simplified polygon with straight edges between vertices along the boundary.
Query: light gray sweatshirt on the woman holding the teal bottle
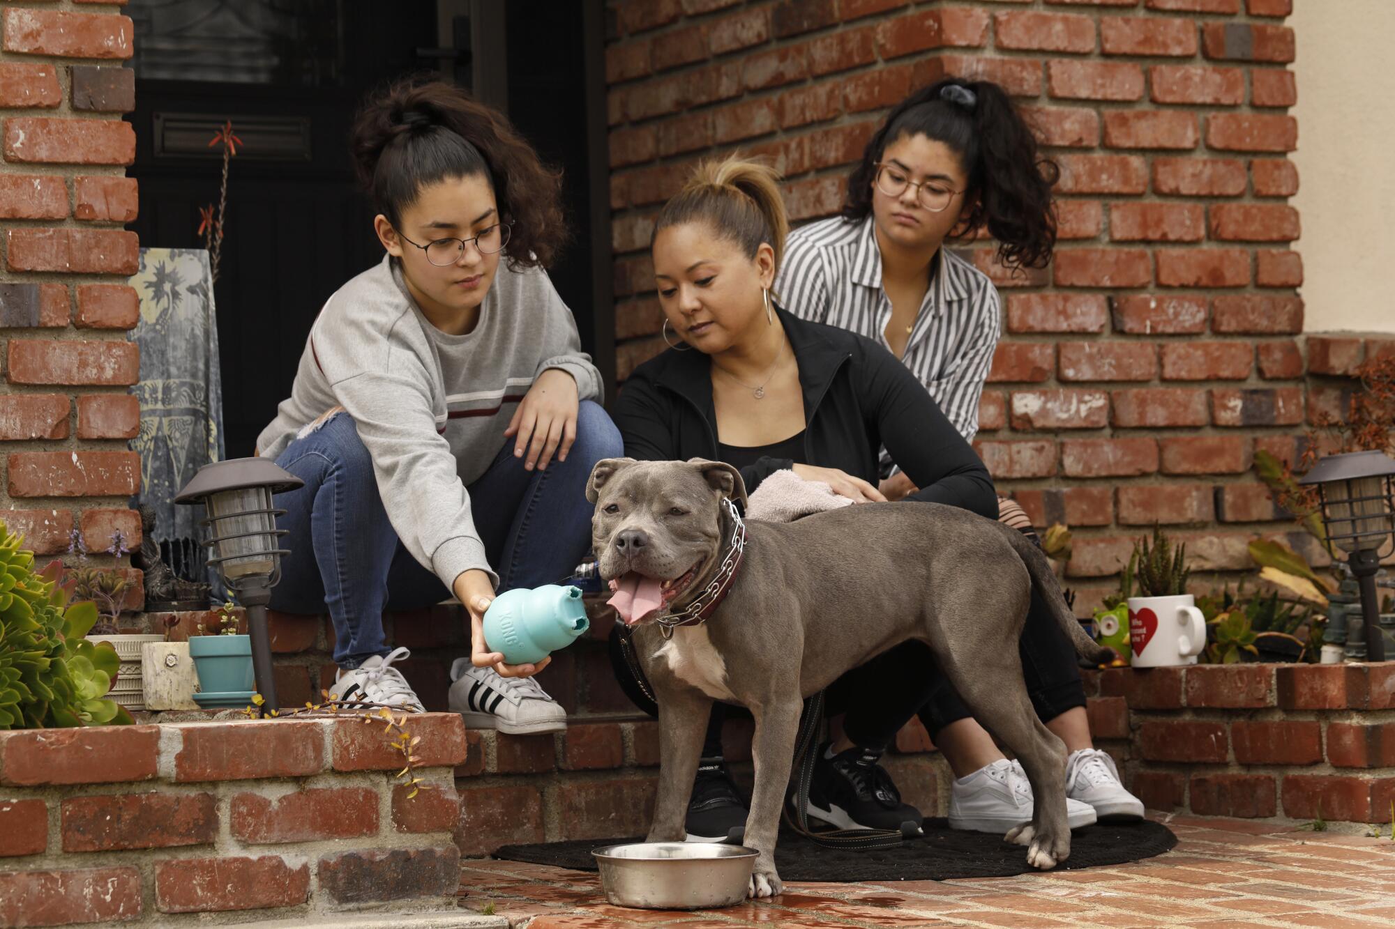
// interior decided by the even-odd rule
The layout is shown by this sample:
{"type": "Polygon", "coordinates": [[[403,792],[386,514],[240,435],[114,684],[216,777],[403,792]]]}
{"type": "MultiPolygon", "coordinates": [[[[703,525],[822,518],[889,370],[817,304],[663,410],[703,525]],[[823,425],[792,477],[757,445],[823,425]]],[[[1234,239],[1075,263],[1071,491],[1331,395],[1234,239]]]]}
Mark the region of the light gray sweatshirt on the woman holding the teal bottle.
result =
{"type": "Polygon", "coordinates": [[[384,255],[325,301],[290,398],[257,449],[275,460],[321,414],[345,407],[407,551],[448,589],[470,568],[498,584],[465,488],[498,455],[516,405],[547,368],[571,374],[580,399],[600,399],[601,378],[580,350],[572,311],[541,268],[511,271],[501,261],[474,331],[448,335],[427,321],[384,255]]]}

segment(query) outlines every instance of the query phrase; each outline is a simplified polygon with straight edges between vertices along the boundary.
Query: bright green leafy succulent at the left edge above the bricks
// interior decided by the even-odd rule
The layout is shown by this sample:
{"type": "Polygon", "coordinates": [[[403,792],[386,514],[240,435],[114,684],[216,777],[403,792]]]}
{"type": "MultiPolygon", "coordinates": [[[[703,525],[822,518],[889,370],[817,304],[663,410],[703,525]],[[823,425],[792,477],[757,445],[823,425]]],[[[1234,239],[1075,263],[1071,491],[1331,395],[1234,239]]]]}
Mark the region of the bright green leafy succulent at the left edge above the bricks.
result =
{"type": "Polygon", "coordinates": [[[63,566],[33,569],[33,552],[0,520],[0,730],[133,723],[103,699],[120,667],[116,650],[84,636],[92,603],[68,604],[63,566]]]}

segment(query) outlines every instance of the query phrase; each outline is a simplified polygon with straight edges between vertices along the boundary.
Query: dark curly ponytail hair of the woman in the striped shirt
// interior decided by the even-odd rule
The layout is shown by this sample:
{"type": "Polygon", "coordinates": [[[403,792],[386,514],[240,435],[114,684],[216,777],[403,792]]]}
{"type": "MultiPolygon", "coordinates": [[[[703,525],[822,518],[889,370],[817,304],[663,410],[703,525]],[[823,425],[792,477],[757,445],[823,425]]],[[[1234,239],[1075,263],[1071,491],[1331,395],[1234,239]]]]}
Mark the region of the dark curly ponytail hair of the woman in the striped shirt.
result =
{"type": "Polygon", "coordinates": [[[872,212],[877,165],[903,135],[925,135],[960,155],[968,174],[964,202],[971,204],[963,227],[970,233],[986,227],[1003,265],[1039,268],[1050,261],[1056,247],[1050,188],[1060,170],[1038,153],[1031,127],[992,81],[944,78],[901,100],[848,177],[845,220],[861,222],[872,212]]]}

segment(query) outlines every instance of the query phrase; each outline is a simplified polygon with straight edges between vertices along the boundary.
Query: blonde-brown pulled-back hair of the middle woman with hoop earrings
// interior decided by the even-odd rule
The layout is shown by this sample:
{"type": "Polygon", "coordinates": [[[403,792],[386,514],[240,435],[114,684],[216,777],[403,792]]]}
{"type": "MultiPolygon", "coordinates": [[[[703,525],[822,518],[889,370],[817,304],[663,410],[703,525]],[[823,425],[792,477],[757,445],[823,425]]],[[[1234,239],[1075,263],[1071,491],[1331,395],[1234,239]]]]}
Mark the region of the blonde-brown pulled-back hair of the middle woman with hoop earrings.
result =
{"type": "Polygon", "coordinates": [[[770,246],[776,252],[774,271],[780,272],[790,219],[780,194],[780,174],[769,165],[739,155],[698,165],[684,188],[658,211],[649,247],[654,247],[661,229],[691,222],[707,223],[751,259],[762,244],[770,246]]]}

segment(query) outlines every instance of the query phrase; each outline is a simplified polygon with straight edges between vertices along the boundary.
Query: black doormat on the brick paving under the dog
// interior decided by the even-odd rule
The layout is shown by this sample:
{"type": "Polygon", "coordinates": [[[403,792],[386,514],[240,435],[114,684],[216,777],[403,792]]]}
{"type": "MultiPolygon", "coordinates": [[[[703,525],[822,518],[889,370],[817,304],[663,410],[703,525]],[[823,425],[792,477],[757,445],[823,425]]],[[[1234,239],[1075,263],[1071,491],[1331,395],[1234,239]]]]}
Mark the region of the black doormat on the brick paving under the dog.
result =
{"type": "MultiPolygon", "coordinates": [[[[943,819],[928,819],[925,834],[893,848],[854,851],[823,848],[781,830],[776,866],[784,880],[950,880],[953,877],[1010,877],[1036,870],[1027,863],[1024,845],[1009,845],[1002,836],[953,830],[943,819]]],[[[536,845],[505,845],[495,858],[596,870],[591,849],[642,838],[587,838],[536,845]]],[[[1122,865],[1169,851],[1177,837],[1161,823],[1127,826],[1095,824],[1071,833],[1070,858],[1062,869],[1122,865]]]]}

